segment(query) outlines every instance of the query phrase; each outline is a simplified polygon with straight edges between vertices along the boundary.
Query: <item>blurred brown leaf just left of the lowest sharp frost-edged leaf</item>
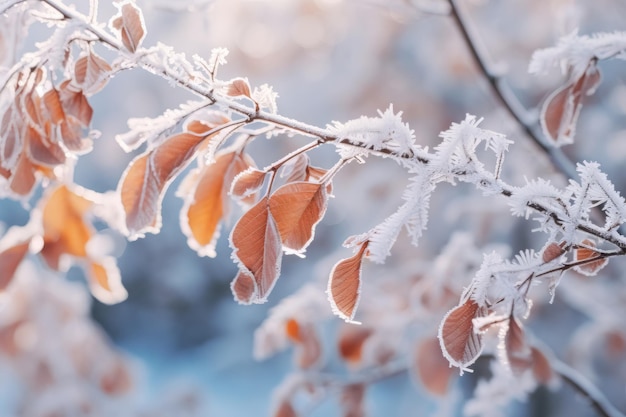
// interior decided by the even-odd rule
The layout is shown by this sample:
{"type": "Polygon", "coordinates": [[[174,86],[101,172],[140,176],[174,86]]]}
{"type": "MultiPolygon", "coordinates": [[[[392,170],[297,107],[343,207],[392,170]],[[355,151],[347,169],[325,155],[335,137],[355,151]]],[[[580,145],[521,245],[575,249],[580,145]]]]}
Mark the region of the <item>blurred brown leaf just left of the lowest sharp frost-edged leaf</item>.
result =
{"type": "Polygon", "coordinates": [[[441,354],[441,345],[436,338],[425,339],[417,345],[411,367],[416,380],[429,393],[444,396],[448,393],[453,368],[441,354]]]}

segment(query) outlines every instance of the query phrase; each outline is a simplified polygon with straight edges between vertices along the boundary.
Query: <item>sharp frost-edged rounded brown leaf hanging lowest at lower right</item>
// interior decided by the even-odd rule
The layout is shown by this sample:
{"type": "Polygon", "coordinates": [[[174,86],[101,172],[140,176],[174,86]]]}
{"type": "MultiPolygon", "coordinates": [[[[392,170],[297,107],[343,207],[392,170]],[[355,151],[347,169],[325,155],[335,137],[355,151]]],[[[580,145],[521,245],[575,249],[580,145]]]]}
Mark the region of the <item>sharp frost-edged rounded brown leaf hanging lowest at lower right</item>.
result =
{"type": "Polygon", "coordinates": [[[450,310],[439,327],[444,357],[461,372],[474,363],[483,349],[482,336],[474,331],[472,320],[484,316],[484,309],[471,298],[450,310]]]}

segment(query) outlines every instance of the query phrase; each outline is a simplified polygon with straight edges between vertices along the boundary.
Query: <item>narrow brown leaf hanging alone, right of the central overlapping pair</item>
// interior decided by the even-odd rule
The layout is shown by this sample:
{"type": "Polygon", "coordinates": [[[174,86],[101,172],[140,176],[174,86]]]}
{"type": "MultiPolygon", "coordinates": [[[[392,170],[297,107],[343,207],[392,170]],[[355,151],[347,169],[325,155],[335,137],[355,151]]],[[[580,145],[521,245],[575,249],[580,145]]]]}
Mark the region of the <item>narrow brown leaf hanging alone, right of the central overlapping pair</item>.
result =
{"type": "Polygon", "coordinates": [[[369,241],[352,257],[337,262],[330,272],[328,297],[333,313],[352,322],[361,293],[361,264],[369,241]]]}

